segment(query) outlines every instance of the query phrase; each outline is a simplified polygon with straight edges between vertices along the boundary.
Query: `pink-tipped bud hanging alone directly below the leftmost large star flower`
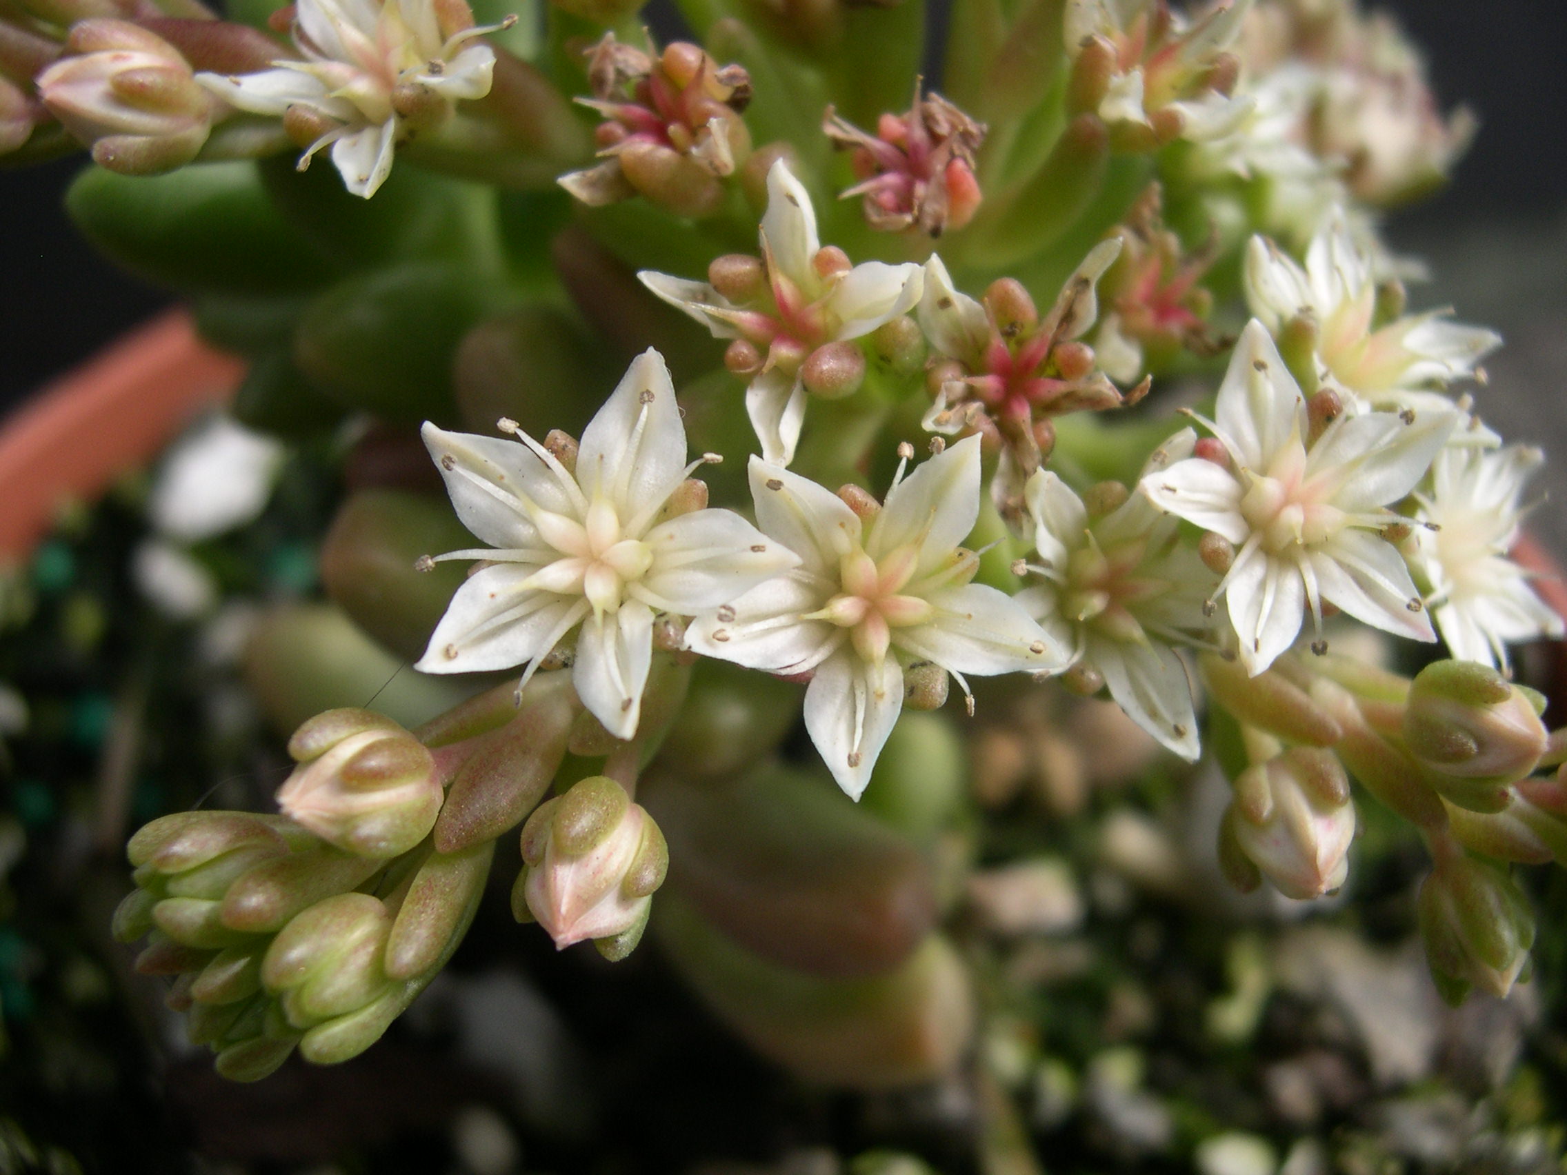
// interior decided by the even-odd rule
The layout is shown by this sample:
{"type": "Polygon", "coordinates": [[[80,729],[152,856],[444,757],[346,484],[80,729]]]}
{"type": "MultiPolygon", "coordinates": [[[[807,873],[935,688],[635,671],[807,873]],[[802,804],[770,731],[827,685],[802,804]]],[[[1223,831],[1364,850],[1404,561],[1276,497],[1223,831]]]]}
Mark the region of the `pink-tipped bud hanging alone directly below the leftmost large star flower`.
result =
{"type": "Polygon", "coordinates": [[[512,891],[519,918],[536,918],[558,948],[594,938],[602,954],[624,959],[647,926],[669,849],[625,788],[592,776],[528,818],[522,860],[512,891]]]}

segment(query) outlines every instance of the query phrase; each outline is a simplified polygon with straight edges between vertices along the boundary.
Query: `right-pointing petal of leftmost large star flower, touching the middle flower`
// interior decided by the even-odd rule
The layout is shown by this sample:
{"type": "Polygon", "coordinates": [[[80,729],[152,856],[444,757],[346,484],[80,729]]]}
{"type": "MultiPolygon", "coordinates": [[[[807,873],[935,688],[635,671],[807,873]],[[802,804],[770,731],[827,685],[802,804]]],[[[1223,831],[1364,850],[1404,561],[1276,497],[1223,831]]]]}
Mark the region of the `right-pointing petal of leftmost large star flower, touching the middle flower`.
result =
{"type": "Polygon", "coordinates": [[[653,564],[632,588],[653,606],[696,616],[799,566],[799,556],[733,511],[707,509],[660,523],[644,539],[653,564]]]}

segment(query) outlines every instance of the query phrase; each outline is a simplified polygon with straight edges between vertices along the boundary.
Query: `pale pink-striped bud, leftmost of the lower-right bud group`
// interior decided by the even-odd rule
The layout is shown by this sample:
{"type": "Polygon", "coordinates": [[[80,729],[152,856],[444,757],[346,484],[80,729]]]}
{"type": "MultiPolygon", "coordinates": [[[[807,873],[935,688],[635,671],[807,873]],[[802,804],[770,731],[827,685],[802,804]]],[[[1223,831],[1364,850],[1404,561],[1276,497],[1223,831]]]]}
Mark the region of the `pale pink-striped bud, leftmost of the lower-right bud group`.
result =
{"type": "Polygon", "coordinates": [[[1318,898],[1344,884],[1355,807],[1349,779],[1330,750],[1294,747],[1247,768],[1222,837],[1288,898],[1318,898]]]}

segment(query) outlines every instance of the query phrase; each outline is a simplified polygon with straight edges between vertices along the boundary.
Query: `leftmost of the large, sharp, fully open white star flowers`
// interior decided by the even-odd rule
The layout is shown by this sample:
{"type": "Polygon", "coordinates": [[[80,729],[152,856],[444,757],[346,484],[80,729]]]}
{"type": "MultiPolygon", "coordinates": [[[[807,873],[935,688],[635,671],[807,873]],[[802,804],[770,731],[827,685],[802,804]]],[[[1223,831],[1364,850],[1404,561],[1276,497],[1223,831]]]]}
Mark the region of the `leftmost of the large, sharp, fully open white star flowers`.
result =
{"type": "MultiPolygon", "coordinates": [[[[512,426],[516,428],[516,426],[512,426]]],[[[636,733],[655,613],[694,616],[790,570],[799,558],[733,511],[668,517],[686,464],[669,370],[646,351],[583,432],[575,472],[517,440],[425,425],[462,525],[495,550],[451,597],[415,666],[465,674],[527,664],[527,680],[578,624],[572,682],[616,738],[636,733]],[[519,443],[520,442],[520,443],[519,443]]]]}

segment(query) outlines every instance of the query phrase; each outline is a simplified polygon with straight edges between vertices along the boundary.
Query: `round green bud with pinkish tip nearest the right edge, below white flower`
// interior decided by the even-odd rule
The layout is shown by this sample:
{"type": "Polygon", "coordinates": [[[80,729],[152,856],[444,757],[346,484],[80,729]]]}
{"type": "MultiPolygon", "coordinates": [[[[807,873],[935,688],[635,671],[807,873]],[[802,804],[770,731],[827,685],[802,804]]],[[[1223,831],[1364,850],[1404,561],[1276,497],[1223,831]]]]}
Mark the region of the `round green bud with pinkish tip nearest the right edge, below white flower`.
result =
{"type": "Polygon", "coordinates": [[[1504,786],[1534,771],[1545,741],[1534,699],[1490,666],[1437,661],[1409,691],[1404,743],[1459,807],[1506,807],[1504,786]]]}

